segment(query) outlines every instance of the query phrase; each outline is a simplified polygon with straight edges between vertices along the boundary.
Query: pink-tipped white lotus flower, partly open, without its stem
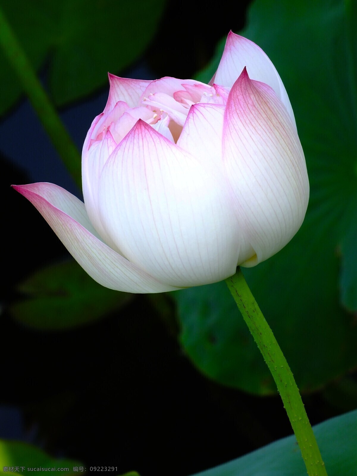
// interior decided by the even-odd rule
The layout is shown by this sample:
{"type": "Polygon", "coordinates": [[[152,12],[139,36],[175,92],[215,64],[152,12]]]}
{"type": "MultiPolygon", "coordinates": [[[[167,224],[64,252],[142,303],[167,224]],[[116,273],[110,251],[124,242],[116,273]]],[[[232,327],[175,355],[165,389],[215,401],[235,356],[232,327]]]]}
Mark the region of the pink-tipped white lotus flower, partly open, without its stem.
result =
{"type": "Polygon", "coordinates": [[[14,186],[103,286],[156,293],[228,278],[300,227],[308,178],[294,114],[267,55],[229,33],[207,85],[109,74],[82,153],[84,203],[14,186]]]}

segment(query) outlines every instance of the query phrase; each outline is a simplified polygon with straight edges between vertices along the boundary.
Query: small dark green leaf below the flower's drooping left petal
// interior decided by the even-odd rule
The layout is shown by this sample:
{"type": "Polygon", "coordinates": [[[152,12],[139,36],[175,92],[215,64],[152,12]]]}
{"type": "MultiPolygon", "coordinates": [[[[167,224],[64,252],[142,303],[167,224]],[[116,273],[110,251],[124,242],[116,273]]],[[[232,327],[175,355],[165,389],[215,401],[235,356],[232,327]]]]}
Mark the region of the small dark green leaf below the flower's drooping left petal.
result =
{"type": "Polygon", "coordinates": [[[10,306],[18,321],[37,329],[67,329],[87,324],[131,299],[131,294],[104,288],[75,262],[54,264],[19,285],[24,300],[10,306]]]}

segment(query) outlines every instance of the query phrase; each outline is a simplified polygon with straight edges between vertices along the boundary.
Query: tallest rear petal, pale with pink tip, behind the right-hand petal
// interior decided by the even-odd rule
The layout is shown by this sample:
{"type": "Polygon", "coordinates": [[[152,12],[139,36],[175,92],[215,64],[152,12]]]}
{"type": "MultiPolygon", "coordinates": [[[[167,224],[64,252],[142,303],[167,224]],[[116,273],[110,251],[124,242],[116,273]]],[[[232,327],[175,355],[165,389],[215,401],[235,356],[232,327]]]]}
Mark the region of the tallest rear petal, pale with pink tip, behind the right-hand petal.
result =
{"type": "Polygon", "coordinates": [[[212,78],[211,83],[215,82],[230,88],[244,67],[247,68],[249,78],[266,83],[274,90],[275,94],[287,108],[289,116],[295,125],[294,113],[288,93],[273,63],[253,41],[230,31],[217,72],[212,78]]]}

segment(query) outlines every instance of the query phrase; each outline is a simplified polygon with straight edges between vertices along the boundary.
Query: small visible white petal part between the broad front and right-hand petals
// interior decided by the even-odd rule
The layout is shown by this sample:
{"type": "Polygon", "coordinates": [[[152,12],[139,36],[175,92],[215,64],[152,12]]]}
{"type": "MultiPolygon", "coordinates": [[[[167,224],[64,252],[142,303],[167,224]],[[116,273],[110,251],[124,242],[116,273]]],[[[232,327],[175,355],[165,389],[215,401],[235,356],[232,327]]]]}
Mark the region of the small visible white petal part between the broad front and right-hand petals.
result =
{"type": "Polygon", "coordinates": [[[207,164],[215,164],[221,173],[222,131],[225,107],[216,104],[191,106],[177,145],[194,157],[204,157],[207,164]]]}

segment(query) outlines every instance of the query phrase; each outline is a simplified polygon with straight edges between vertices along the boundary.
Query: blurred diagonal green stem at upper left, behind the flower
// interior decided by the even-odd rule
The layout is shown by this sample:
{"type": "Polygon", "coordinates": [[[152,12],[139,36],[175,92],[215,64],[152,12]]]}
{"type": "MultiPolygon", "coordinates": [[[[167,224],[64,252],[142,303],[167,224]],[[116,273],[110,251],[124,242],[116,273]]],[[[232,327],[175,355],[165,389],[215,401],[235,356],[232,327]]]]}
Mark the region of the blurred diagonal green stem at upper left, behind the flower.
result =
{"type": "Polygon", "coordinates": [[[0,8],[0,45],[69,173],[81,188],[78,149],[61,122],[32,65],[0,8]]]}

